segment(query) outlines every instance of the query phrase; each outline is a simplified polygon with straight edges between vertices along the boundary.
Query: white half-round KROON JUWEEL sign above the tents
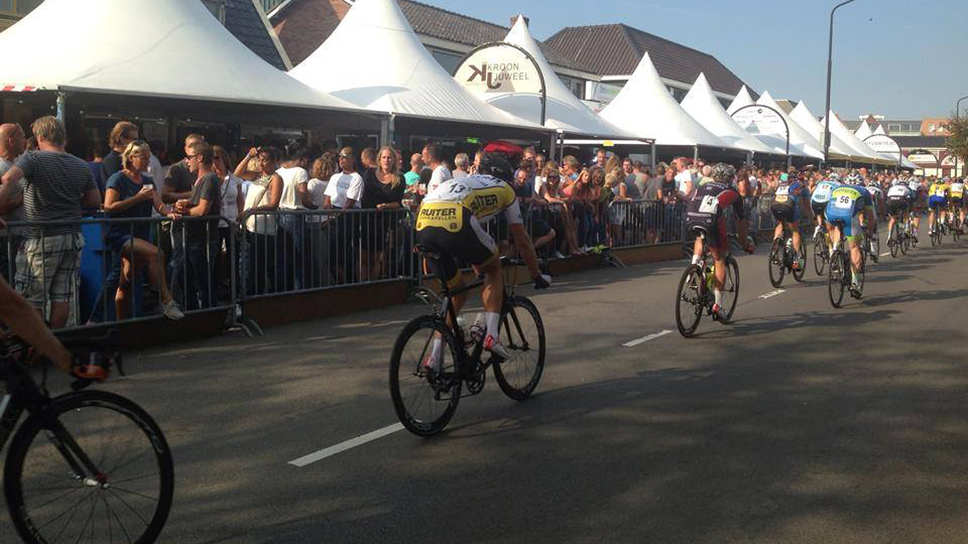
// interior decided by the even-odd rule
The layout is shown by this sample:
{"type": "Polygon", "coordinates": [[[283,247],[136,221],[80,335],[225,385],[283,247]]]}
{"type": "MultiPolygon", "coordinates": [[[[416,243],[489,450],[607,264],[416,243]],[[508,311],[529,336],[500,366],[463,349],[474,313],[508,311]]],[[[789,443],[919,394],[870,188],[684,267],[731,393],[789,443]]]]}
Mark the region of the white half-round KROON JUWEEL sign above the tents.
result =
{"type": "Polygon", "coordinates": [[[454,73],[454,78],[470,92],[487,95],[505,93],[541,94],[541,72],[521,48],[510,44],[491,44],[469,54],[454,73]]]}

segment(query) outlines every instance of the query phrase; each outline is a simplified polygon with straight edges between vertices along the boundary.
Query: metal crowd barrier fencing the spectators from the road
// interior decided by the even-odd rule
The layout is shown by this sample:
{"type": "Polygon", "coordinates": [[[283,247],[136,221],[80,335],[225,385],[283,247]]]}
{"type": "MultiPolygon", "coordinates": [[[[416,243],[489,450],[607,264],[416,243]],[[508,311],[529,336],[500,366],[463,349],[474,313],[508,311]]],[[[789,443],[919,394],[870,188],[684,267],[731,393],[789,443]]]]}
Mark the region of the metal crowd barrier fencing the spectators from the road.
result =
{"type": "MultiPolygon", "coordinates": [[[[772,196],[745,198],[751,230],[775,225],[771,202],[772,196]]],[[[561,241],[569,235],[568,228],[584,236],[580,245],[604,243],[608,237],[613,248],[684,243],[692,237],[685,228],[681,202],[613,201],[601,205],[594,224],[588,224],[593,210],[581,204],[534,204],[524,212],[532,237],[541,238],[547,228],[556,231],[552,241],[545,235],[546,245],[538,250],[546,258],[553,258],[557,250],[565,253],[561,241]]],[[[136,274],[127,287],[128,295],[117,296],[122,267],[119,239],[138,237],[161,250],[166,285],[183,312],[225,310],[231,324],[243,322],[246,301],[260,297],[400,279],[421,286],[425,273],[413,252],[414,225],[415,214],[408,208],[258,210],[243,214],[238,223],[225,217],[19,222],[0,230],[0,274],[14,283],[23,227],[78,226],[85,248],[71,285],[71,326],[117,322],[118,311],[125,314],[123,320],[156,317],[161,289],[155,273],[149,273],[151,262],[143,262],[145,257],[136,254],[128,259],[136,274]],[[123,305],[116,300],[123,300],[123,305]]],[[[498,241],[509,237],[498,220],[486,229],[498,241]]],[[[46,295],[45,308],[49,306],[46,295]]]]}

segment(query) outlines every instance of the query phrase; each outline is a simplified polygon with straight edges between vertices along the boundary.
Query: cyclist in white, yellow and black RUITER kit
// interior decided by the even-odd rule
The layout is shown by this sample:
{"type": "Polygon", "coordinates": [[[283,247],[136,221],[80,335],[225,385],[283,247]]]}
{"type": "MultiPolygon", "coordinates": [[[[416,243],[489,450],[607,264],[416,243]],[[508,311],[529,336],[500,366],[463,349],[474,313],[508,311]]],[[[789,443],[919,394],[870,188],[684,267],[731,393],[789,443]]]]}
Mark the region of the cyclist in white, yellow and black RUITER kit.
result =
{"type": "MultiPolygon", "coordinates": [[[[417,243],[434,248],[441,255],[440,280],[451,288],[463,285],[463,276],[454,257],[469,263],[474,272],[484,276],[484,348],[506,359],[507,350],[500,345],[499,316],[504,292],[500,273],[498,245],[484,224],[504,214],[508,229],[519,253],[524,257],[535,288],[551,285],[551,276],[542,274],[534,246],[525,229],[517,196],[509,185],[514,170],[499,155],[485,154],[478,173],[441,183],[420,204],[417,213],[417,243]]],[[[467,293],[454,297],[455,315],[460,313],[467,293]]],[[[453,325],[453,323],[451,323],[453,325]]],[[[441,340],[434,341],[431,355],[424,365],[437,370],[441,340]]]]}

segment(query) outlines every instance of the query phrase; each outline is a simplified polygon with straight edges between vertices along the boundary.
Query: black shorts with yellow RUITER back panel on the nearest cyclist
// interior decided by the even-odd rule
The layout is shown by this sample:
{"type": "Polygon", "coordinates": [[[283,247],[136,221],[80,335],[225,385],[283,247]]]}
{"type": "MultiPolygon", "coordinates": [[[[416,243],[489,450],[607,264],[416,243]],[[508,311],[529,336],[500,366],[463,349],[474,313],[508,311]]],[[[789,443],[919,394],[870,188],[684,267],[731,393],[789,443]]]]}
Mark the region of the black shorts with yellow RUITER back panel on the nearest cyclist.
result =
{"type": "Polygon", "coordinates": [[[424,204],[420,208],[417,243],[430,246],[441,255],[438,274],[454,287],[462,264],[481,265],[498,256],[498,245],[468,208],[452,202],[424,204]],[[427,210],[425,212],[425,210],[427,210]],[[422,225],[421,225],[422,224],[422,225]]]}

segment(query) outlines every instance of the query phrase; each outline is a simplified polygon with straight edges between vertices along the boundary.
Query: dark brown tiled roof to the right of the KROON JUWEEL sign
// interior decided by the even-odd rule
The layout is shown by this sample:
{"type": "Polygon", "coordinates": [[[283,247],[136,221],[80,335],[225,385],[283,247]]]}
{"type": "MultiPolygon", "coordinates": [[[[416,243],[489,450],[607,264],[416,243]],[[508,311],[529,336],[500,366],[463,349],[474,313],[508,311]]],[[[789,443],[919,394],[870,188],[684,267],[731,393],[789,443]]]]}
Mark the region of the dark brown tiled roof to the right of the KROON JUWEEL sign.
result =
{"type": "Polygon", "coordinates": [[[743,85],[738,76],[712,55],[626,24],[571,26],[560,30],[546,44],[564,58],[601,76],[632,74],[643,54],[649,51],[660,76],[692,84],[702,72],[712,90],[728,95],[736,95],[743,85]]]}

